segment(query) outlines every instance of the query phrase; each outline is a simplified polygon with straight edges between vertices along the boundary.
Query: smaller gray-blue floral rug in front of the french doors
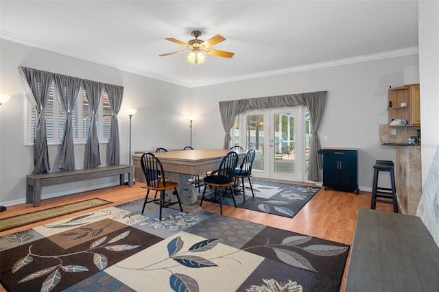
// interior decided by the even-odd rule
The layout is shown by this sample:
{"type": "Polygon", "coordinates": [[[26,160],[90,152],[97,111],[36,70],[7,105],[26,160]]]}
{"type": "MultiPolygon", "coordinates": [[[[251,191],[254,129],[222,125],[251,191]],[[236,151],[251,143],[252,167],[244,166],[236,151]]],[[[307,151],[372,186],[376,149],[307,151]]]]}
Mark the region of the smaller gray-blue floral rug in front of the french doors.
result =
{"type": "MultiPolygon", "coordinates": [[[[245,180],[244,184],[247,186],[245,191],[246,202],[244,202],[244,195],[241,191],[235,193],[238,208],[289,218],[294,217],[309,202],[313,195],[316,195],[320,190],[320,188],[312,186],[257,180],[252,182],[254,192],[254,197],[252,197],[248,180],[245,180]]],[[[241,190],[241,188],[239,189],[241,190]]],[[[234,206],[230,191],[227,191],[226,195],[228,197],[224,199],[223,204],[234,206]]],[[[213,200],[213,191],[208,188],[204,197],[213,200]]],[[[201,195],[198,198],[201,199],[201,195]]]]}

